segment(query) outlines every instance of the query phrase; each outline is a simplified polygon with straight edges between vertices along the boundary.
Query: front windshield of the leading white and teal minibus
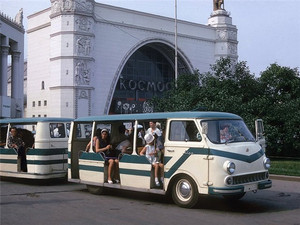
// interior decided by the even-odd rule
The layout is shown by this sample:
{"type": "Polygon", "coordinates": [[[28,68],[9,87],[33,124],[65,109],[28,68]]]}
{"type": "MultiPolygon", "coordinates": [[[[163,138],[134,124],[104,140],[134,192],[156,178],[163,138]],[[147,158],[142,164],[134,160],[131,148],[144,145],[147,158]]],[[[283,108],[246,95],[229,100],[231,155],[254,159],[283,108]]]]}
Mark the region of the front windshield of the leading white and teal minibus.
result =
{"type": "Polygon", "coordinates": [[[207,137],[216,144],[231,142],[255,142],[255,138],[243,120],[205,120],[207,123],[207,137]]]}

